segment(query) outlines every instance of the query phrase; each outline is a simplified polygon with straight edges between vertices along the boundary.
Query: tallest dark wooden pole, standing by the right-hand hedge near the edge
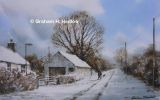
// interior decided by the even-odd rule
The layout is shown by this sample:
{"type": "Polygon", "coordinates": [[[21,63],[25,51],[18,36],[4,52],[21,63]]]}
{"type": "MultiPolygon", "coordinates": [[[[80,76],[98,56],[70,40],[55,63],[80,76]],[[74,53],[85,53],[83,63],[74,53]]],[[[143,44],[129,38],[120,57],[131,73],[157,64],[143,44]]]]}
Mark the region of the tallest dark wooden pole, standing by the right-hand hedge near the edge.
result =
{"type": "Polygon", "coordinates": [[[155,18],[153,18],[153,86],[155,85],[156,53],[155,53],[155,18]]]}

